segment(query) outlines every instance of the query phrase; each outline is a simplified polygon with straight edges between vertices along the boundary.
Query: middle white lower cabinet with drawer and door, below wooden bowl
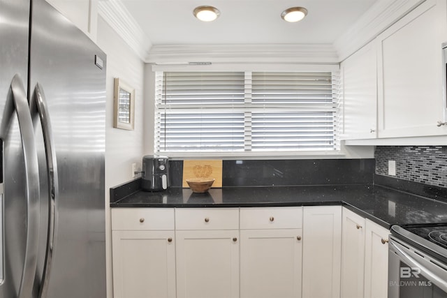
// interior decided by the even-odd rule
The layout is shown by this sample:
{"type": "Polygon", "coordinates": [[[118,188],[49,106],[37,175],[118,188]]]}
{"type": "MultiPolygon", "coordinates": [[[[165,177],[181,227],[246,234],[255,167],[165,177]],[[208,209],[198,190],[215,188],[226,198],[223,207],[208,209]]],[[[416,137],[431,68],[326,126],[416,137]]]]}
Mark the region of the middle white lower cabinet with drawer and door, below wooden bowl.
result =
{"type": "Polygon", "coordinates": [[[239,297],[239,209],[176,209],[177,298],[239,297]]]}

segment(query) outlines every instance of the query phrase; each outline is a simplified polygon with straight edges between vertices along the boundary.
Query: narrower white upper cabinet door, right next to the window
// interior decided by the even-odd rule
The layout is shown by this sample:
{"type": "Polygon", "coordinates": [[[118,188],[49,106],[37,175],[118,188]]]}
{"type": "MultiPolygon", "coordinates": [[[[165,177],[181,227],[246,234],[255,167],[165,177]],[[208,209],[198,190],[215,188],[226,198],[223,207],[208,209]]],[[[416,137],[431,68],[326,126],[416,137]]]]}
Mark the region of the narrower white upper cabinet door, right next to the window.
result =
{"type": "Polygon", "coordinates": [[[369,43],[342,63],[343,139],[376,137],[376,45],[369,43]]]}

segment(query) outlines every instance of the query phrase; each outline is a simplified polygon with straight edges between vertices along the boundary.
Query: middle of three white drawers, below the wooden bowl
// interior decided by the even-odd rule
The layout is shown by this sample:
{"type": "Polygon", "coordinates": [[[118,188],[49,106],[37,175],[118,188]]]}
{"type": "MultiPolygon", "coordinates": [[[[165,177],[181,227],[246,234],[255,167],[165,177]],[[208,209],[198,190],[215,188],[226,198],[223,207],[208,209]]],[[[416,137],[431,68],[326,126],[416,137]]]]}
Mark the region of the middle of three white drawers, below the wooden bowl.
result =
{"type": "Polygon", "coordinates": [[[175,209],[176,230],[238,230],[238,208],[175,209]]]}

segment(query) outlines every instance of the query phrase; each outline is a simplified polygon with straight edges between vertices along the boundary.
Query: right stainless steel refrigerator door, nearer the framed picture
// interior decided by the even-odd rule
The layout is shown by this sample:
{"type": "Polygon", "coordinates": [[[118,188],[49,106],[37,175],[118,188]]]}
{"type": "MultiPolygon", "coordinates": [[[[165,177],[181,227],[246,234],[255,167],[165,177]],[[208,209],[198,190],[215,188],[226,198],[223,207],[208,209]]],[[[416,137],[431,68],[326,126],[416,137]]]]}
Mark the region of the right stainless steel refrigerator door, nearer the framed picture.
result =
{"type": "MultiPolygon", "coordinates": [[[[29,92],[31,98],[36,96],[38,85],[45,94],[59,189],[45,298],[101,298],[106,295],[105,54],[46,1],[33,0],[32,12],[29,92]],[[103,68],[95,64],[100,60],[103,68]]],[[[38,293],[45,284],[52,195],[41,119],[34,119],[41,177],[40,234],[45,235],[39,245],[38,293]]]]}

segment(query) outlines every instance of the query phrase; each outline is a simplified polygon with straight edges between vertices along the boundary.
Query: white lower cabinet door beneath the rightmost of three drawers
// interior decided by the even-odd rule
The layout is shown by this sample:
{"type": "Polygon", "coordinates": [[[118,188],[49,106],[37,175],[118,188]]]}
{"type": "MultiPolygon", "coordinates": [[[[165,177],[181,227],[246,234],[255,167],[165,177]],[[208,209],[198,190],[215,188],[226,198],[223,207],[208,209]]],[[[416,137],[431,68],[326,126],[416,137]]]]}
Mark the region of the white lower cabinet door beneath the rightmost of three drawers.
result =
{"type": "Polygon", "coordinates": [[[240,297],[301,297],[302,229],[240,231],[240,297]]]}

